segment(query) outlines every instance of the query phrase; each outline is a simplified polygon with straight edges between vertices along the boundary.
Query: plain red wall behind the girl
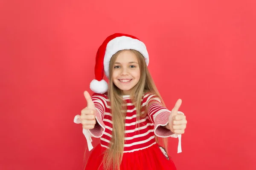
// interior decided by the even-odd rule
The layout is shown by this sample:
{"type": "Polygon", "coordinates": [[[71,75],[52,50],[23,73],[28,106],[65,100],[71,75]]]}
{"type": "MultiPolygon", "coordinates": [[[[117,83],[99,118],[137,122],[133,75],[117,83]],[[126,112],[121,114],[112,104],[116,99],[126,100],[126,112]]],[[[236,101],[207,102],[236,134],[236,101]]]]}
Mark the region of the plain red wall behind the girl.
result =
{"type": "Polygon", "coordinates": [[[0,170],[82,170],[73,118],[115,32],[145,42],[169,109],[183,99],[178,170],[256,169],[255,0],[5,0],[0,21],[0,170]]]}

